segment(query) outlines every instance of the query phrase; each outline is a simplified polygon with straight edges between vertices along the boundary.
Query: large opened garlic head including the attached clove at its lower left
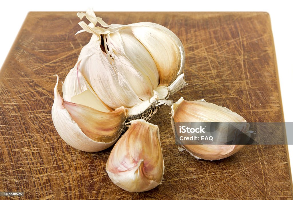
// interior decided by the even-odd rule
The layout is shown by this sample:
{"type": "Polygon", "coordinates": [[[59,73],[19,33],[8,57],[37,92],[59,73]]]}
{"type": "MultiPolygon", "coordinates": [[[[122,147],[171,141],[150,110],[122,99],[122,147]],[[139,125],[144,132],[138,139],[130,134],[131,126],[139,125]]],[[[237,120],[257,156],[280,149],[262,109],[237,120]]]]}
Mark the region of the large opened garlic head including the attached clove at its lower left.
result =
{"type": "Polygon", "coordinates": [[[126,120],[149,120],[159,105],[171,104],[169,94],[187,85],[184,48],[156,23],[108,25],[92,9],[77,15],[90,21],[81,21],[77,33],[92,37],[64,80],[63,98],[55,86],[52,119],[69,145],[100,151],[117,140],[126,120]]]}

